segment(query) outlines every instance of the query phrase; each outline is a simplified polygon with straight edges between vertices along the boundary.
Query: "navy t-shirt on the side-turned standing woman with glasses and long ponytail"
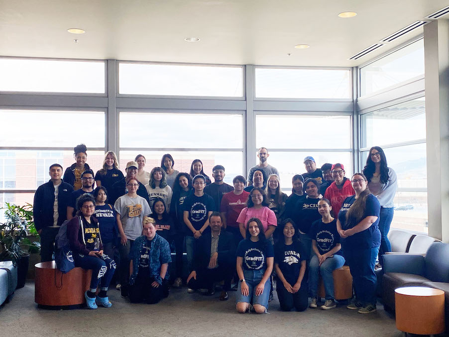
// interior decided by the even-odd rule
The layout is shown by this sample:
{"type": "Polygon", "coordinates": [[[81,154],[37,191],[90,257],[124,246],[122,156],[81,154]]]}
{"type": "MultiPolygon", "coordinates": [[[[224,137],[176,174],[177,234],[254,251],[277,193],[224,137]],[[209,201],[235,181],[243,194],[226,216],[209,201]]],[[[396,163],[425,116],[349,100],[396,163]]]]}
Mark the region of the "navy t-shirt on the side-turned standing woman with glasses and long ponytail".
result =
{"type": "MultiPolygon", "coordinates": [[[[352,228],[357,224],[349,225],[346,221],[346,213],[355,201],[355,196],[350,196],[344,199],[340,212],[338,213],[338,220],[340,221],[343,230],[352,228]]],[[[380,204],[377,198],[370,194],[366,198],[365,213],[363,219],[369,216],[377,217],[377,220],[369,228],[358,232],[347,238],[341,238],[341,243],[344,249],[352,248],[374,248],[380,246],[380,231],[379,231],[379,215],[380,204]]]]}

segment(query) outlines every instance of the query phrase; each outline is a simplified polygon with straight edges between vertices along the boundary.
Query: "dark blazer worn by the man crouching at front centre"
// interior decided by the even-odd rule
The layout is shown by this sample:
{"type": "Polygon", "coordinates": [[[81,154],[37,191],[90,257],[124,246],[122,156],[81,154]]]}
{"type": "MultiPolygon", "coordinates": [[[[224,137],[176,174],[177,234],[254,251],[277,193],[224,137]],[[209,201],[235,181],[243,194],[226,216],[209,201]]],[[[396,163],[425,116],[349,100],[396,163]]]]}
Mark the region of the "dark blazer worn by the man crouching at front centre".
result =
{"type": "MultiPolygon", "coordinates": [[[[211,260],[211,232],[202,235],[196,242],[197,249],[195,254],[195,271],[206,269],[211,260]]],[[[219,265],[234,265],[235,266],[235,243],[234,236],[222,228],[220,238],[218,240],[218,259],[219,265]]]]}

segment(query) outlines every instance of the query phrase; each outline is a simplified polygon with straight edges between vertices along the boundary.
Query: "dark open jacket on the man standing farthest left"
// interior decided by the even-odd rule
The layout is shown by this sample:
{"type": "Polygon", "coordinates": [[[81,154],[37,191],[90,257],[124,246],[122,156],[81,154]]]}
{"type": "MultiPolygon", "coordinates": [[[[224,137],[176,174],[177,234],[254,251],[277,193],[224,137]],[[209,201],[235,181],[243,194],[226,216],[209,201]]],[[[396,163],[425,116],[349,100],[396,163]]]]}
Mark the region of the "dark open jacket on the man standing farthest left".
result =
{"type": "MultiPolygon", "coordinates": [[[[72,185],[61,181],[58,189],[58,225],[67,220],[67,206],[72,197],[72,185]]],[[[53,225],[53,203],[55,201],[55,187],[50,180],[39,186],[34,194],[33,216],[36,230],[53,225]]]]}

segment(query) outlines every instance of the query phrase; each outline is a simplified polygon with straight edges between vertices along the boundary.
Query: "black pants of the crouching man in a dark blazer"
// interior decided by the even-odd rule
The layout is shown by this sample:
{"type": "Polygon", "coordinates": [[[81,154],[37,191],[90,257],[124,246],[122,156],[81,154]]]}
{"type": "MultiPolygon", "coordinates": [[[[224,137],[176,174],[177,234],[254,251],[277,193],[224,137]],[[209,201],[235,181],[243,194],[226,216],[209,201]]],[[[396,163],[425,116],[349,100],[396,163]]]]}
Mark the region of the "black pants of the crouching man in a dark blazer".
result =
{"type": "Polygon", "coordinates": [[[231,264],[219,265],[215,269],[201,269],[197,270],[197,279],[191,279],[187,285],[192,289],[210,289],[214,287],[214,282],[224,280],[224,291],[229,291],[231,288],[231,280],[234,269],[231,264]]]}

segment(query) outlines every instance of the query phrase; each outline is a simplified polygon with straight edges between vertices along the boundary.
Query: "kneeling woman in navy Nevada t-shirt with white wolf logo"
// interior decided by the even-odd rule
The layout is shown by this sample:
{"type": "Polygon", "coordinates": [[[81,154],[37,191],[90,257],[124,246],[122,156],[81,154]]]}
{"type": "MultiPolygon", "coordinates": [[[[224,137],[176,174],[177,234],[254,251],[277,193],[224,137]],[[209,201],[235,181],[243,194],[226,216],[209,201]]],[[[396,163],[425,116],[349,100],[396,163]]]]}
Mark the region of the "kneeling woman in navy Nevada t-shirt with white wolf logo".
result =
{"type": "Polygon", "coordinates": [[[291,219],[279,225],[283,237],[274,245],[274,270],[276,271],[276,292],[281,310],[297,311],[307,309],[309,303],[304,246],[299,241],[298,230],[291,219]]]}

